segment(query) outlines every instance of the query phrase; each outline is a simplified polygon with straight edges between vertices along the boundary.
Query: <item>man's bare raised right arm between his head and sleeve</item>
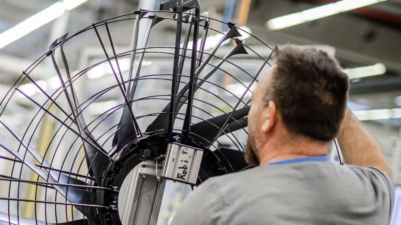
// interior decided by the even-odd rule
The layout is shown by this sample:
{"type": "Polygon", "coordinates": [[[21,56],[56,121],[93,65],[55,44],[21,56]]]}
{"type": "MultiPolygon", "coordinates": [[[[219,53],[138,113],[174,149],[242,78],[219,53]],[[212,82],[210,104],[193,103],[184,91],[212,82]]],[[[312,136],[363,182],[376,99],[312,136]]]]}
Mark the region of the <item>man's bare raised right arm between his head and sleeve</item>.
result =
{"type": "Polygon", "coordinates": [[[337,140],[347,164],[380,169],[393,181],[383,149],[349,108],[345,111],[337,140]]]}

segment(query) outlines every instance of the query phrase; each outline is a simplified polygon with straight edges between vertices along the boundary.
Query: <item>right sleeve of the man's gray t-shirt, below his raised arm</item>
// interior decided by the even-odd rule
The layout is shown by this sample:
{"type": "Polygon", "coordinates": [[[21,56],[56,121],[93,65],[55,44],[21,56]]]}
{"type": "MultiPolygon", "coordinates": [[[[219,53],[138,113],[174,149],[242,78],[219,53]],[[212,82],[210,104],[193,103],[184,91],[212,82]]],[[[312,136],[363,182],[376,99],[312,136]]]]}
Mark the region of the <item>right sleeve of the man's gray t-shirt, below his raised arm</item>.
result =
{"type": "Polygon", "coordinates": [[[389,212],[389,223],[391,219],[391,213],[394,205],[394,185],[390,181],[389,177],[385,175],[380,169],[375,167],[355,167],[360,170],[373,185],[376,194],[377,202],[383,203],[383,207],[388,209],[389,212]]]}

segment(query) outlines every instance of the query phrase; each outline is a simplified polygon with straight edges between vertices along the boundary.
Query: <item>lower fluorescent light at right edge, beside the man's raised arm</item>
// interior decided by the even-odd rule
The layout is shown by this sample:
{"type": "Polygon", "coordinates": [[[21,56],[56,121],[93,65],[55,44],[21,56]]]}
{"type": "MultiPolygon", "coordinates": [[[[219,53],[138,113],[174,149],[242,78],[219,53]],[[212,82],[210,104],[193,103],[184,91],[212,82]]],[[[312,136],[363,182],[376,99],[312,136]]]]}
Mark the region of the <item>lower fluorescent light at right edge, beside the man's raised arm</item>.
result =
{"type": "Polygon", "coordinates": [[[360,121],[401,118],[401,108],[352,111],[360,121]]]}

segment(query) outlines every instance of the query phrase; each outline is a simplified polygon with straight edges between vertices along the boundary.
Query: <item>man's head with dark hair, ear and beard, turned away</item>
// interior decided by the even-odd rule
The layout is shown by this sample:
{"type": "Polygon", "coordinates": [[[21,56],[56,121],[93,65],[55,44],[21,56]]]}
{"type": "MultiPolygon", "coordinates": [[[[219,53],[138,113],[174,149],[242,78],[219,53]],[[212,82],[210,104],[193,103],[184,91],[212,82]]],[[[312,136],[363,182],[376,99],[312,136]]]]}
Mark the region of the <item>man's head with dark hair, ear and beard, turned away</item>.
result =
{"type": "Polygon", "coordinates": [[[245,157],[253,165],[259,165],[259,151],[270,140],[328,143],[344,117],[349,81],[337,60],[321,50],[287,45],[275,48],[275,62],[252,93],[245,157]]]}

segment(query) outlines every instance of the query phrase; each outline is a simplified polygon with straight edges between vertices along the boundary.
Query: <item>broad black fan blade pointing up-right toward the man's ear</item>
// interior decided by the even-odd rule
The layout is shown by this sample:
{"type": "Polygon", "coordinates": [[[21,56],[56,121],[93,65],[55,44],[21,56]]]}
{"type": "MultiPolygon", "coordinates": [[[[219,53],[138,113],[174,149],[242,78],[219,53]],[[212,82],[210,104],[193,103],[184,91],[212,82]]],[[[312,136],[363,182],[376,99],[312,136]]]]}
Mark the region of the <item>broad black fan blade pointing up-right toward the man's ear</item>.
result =
{"type": "Polygon", "coordinates": [[[191,133],[192,133],[191,137],[198,140],[203,145],[209,146],[213,144],[211,142],[213,141],[213,139],[215,139],[216,135],[218,135],[221,127],[224,125],[227,119],[229,125],[228,127],[225,128],[225,130],[229,129],[231,131],[232,128],[236,128],[237,126],[239,127],[239,125],[234,125],[238,124],[237,121],[239,121],[240,123],[244,123],[241,122],[241,120],[244,121],[244,119],[242,118],[246,117],[248,115],[248,112],[249,112],[249,107],[245,107],[233,111],[230,118],[229,115],[231,112],[217,117],[213,117],[206,121],[196,123],[191,126],[191,133]],[[233,125],[231,125],[231,123],[233,123],[233,125]]]}

